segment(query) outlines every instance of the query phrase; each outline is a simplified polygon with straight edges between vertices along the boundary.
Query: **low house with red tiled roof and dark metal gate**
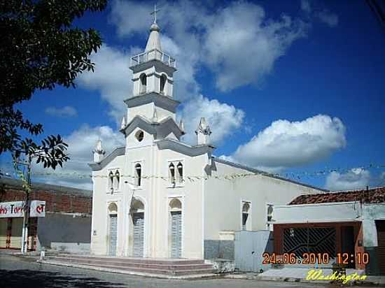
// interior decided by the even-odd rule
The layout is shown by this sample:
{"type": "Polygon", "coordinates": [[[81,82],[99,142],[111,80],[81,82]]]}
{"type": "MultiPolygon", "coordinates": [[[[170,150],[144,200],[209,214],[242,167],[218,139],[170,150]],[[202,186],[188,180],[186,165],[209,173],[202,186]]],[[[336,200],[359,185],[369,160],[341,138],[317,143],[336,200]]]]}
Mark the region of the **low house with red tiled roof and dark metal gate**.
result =
{"type": "Polygon", "coordinates": [[[385,275],[385,187],[301,195],[274,206],[271,223],[276,254],[327,253],[330,264],[385,275]]]}

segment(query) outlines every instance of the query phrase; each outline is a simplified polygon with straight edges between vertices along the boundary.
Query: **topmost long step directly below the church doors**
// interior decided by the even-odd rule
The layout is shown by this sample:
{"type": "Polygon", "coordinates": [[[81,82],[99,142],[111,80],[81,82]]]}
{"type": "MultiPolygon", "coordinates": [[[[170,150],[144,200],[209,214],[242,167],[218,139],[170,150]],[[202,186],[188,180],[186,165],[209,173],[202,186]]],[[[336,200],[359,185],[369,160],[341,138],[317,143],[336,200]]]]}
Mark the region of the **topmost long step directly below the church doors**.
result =
{"type": "Polygon", "coordinates": [[[90,261],[104,261],[104,262],[120,262],[130,264],[158,264],[158,265],[198,265],[204,264],[202,259],[153,259],[140,257],[98,257],[98,256],[84,256],[76,254],[59,254],[52,258],[71,258],[71,259],[89,259],[90,261]]]}

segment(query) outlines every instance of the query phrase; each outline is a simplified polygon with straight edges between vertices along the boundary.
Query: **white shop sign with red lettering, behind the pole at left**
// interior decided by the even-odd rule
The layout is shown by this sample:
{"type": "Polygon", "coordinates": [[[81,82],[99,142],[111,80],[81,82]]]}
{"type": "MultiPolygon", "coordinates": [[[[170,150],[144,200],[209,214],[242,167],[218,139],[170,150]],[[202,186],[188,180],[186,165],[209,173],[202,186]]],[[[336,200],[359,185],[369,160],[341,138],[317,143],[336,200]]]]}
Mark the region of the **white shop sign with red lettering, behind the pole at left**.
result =
{"type": "MultiPolygon", "coordinates": [[[[45,217],[45,201],[31,201],[29,203],[29,217],[45,217]]],[[[0,203],[0,218],[23,217],[23,201],[0,203]]]]}

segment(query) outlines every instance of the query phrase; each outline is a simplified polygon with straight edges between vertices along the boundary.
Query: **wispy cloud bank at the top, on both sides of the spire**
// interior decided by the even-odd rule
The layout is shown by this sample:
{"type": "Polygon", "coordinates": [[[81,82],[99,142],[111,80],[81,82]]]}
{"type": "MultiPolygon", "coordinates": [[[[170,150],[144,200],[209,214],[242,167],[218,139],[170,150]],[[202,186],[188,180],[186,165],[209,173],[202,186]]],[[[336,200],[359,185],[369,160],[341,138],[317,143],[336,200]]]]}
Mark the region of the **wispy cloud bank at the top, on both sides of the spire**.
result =
{"type": "MultiPolygon", "coordinates": [[[[145,38],[151,9],[151,3],[115,1],[111,22],[122,37],[139,34],[145,38]]],[[[230,3],[216,11],[187,0],[165,3],[158,22],[162,35],[179,47],[174,56],[181,65],[181,89],[176,87],[180,99],[186,99],[192,87],[197,88],[194,78],[200,65],[216,73],[216,86],[222,91],[260,82],[308,28],[302,20],[288,15],[269,19],[262,6],[247,1],[230,3]]],[[[174,52],[165,44],[164,50],[174,52]]]]}

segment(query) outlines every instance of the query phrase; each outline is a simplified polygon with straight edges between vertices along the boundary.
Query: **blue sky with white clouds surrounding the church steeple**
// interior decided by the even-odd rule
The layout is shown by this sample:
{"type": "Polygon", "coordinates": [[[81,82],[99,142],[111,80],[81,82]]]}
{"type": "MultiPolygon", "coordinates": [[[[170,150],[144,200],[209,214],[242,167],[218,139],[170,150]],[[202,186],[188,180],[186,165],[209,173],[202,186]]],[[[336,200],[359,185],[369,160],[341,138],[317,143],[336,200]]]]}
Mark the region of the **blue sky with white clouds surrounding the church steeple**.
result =
{"type": "MultiPolygon", "coordinates": [[[[365,1],[158,4],[162,48],[179,67],[174,97],[186,142],[195,143],[204,116],[218,157],[328,189],[385,184],[385,167],[361,168],[385,164],[385,37],[365,1]],[[304,175],[315,171],[328,172],[304,175]]],[[[104,45],[92,55],[95,73],[81,75],[76,89],[36,92],[20,105],[45,135],[70,144],[60,177],[34,180],[89,188],[88,178],[64,173],[90,173],[98,138],[107,152],[123,143],[130,56],[144,50],[152,9],[153,2],[111,1],[76,22],[98,29],[104,45]]],[[[8,155],[0,161],[10,171],[8,155]]]]}

